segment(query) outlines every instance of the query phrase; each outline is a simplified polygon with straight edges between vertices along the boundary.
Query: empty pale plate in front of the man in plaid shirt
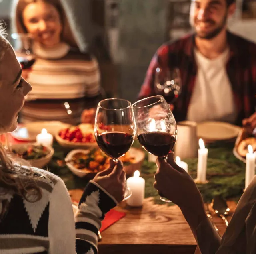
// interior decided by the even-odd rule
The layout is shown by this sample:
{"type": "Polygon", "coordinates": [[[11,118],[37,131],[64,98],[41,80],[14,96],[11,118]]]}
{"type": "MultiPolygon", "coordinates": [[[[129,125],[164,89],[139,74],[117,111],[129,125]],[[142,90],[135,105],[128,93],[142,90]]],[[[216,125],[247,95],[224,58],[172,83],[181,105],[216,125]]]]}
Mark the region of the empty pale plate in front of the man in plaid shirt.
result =
{"type": "Polygon", "coordinates": [[[238,136],[240,129],[226,122],[202,122],[197,125],[197,136],[205,140],[230,140],[238,136]]]}

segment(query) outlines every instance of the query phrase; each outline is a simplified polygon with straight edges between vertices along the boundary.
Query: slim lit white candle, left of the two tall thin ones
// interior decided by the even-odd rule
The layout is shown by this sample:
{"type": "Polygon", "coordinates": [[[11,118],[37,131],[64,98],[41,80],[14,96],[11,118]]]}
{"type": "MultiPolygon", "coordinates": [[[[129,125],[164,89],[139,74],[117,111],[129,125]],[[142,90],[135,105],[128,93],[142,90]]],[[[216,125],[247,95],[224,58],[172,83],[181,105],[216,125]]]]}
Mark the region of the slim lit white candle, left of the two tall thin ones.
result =
{"type": "Polygon", "coordinates": [[[204,141],[202,138],[199,140],[198,149],[198,164],[197,164],[197,179],[198,183],[206,183],[206,169],[207,169],[207,157],[208,157],[208,149],[204,146],[204,141]]]}

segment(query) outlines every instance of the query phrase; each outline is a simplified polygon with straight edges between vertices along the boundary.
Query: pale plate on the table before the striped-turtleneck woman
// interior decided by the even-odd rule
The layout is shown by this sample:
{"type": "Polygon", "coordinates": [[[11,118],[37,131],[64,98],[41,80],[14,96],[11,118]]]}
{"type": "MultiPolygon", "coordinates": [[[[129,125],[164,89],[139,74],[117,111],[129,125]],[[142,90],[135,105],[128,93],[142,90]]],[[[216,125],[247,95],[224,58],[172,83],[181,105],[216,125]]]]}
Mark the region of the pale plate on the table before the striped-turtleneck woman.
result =
{"type": "Polygon", "coordinates": [[[70,124],[59,121],[29,122],[11,132],[11,135],[17,140],[32,142],[36,141],[36,135],[41,133],[44,128],[48,133],[55,136],[60,129],[68,128],[69,126],[70,124]]]}

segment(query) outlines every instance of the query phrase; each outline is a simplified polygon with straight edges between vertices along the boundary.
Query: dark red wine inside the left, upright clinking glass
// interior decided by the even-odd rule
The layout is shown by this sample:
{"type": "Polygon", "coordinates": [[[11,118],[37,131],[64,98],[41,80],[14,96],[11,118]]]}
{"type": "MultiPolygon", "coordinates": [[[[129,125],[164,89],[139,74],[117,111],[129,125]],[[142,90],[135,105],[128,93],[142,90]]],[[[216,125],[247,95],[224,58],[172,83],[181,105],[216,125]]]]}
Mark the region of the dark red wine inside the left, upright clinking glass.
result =
{"type": "Polygon", "coordinates": [[[104,132],[96,136],[96,141],[105,154],[117,159],[128,152],[133,136],[125,132],[104,132]]]}

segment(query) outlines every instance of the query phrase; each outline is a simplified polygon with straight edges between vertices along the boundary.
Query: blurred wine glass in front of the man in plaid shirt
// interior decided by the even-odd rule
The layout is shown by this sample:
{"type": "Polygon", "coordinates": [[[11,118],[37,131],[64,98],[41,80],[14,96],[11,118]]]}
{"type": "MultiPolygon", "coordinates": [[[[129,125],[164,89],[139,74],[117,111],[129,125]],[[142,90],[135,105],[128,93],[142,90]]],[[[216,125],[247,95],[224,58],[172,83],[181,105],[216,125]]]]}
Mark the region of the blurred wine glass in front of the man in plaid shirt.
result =
{"type": "Polygon", "coordinates": [[[168,104],[173,104],[182,90],[180,69],[163,70],[157,67],[155,71],[154,90],[156,95],[164,96],[168,104]]]}

